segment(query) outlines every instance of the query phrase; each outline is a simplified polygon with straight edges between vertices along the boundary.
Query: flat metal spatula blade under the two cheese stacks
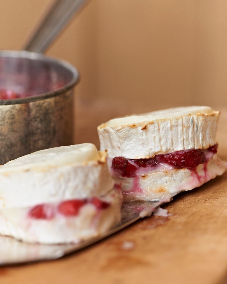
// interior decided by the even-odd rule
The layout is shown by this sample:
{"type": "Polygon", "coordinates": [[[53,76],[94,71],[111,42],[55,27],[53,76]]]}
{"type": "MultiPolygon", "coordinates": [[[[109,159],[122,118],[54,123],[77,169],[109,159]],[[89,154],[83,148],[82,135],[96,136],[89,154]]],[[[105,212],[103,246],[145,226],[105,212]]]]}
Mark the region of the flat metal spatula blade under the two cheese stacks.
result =
{"type": "Polygon", "coordinates": [[[122,221],[118,227],[96,238],[83,241],[79,244],[42,245],[18,241],[12,237],[0,236],[0,266],[34,262],[40,260],[54,260],[71,252],[81,250],[92,245],[140,218],[150,216],[161,202],[134,201],[123,204],[121,208],[122,221]]]}

